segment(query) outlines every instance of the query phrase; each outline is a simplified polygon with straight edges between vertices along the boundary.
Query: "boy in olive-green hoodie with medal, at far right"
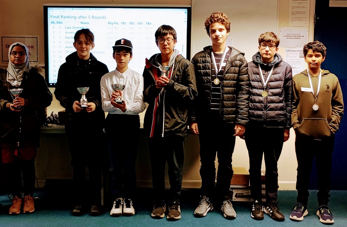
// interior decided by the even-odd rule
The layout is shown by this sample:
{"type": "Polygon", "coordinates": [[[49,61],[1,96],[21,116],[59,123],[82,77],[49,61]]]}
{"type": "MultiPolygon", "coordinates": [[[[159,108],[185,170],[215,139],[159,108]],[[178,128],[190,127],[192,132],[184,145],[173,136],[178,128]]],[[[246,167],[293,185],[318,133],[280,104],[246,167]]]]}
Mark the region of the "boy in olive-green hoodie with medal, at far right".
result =
{"type": "Polygon", "coordinates": [[[296,135],[298,195],[290,219],[300,221],[308,214],[308,184],[315,158],[319,205],[316,214],[320,222],[333,223],[328,198],[335,133],[343,115],[342,91],[338,78],[320,68],[326,55],[322,43],[314,41],[304,45],[303,54],[308,67],[293,77],[291,124],[296,135]]]}

